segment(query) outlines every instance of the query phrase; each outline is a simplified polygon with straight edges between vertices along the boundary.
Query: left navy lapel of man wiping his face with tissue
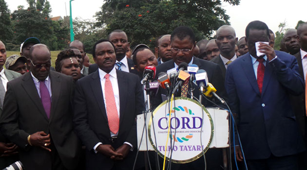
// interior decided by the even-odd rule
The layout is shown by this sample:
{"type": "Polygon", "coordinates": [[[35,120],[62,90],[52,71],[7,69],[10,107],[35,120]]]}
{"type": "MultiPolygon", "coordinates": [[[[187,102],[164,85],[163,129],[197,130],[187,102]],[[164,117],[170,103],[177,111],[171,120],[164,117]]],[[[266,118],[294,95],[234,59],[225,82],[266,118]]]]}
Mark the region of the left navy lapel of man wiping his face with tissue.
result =
{"type": "Polygon", "coordinates": [[[252,88],[255,90],[256,93],[260,95],[259,87],[257,84],[257,80],[256,80],[254,68],[251,63],[249,52],[241,57],[244,57],[242,60],[243,62],[241,63],[241,67],[243,68],[244,73],[246,74],[246,77],[248,78],[249,83],[252,86],[252,88]]]}

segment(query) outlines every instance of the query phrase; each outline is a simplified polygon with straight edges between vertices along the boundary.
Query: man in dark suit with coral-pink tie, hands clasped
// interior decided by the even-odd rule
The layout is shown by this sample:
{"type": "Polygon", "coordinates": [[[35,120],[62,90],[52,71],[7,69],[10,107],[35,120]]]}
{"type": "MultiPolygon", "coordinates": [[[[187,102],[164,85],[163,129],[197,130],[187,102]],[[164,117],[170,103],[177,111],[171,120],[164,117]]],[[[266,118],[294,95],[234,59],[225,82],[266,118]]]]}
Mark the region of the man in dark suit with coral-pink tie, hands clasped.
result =
{"type": "Polygon", "coordinates": [[[75,130],[86,146],[87,170],[132,170],[137,114],[144,99],[137,75],[115,69],[115,47],[105,39],[93,47],[99,66],[77,81],[75,130]]]}

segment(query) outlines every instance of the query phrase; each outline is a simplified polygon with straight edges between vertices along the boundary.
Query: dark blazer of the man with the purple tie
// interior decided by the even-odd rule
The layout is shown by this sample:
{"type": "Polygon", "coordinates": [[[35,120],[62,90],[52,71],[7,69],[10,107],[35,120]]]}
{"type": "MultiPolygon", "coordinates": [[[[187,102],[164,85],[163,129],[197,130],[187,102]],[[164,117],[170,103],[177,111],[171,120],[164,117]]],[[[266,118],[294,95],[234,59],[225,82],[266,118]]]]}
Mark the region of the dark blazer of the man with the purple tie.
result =
{"type": "MultiPolygon", "coordinates": [[[[52,154],[28,145],[27,137],[38,131],[51,136],[52,146],[67,169],[77,166],[80,141],[73,132],[74,81],[56,71],[49,74],[52,90],[50,119],[47,118],[31,72],[10,81],[0,118],[2,133],[20,148],[20,161],[27,170],[51,170],[52,154]]],[[[55,152],[55,151],[52,151],[55,152]]]]}

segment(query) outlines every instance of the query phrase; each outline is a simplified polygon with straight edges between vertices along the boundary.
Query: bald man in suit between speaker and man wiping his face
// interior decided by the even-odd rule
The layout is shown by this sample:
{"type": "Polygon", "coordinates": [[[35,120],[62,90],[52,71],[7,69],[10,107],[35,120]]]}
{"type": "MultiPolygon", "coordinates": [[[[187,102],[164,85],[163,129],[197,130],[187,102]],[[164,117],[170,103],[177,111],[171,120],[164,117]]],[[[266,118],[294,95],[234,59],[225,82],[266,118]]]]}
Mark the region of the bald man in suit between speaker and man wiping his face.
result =
{"type": "Polygon", "coordinates": [[[219,65],[222,70],[223,80],[225,79],[227,66],[237,58],[235,54],[236,41],[235,31],[231,26],[223,25],[216,31],[215,43],[220,55],[210,61],[219,65]]]}

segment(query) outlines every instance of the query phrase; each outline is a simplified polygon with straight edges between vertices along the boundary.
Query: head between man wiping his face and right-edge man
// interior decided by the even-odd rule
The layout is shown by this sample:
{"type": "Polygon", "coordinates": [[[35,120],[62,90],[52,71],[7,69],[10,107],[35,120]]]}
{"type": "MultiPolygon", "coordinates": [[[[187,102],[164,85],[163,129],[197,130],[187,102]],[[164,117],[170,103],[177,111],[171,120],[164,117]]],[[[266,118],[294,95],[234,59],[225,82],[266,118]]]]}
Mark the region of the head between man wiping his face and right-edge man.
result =
{"type": "Polygon", "coordinates": [[[300,51],[299,35],[295,29],[288,29],[283,39],[289,54],[294,55],[300,51]]]}

